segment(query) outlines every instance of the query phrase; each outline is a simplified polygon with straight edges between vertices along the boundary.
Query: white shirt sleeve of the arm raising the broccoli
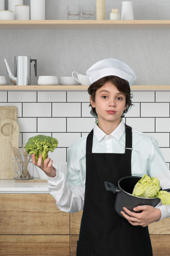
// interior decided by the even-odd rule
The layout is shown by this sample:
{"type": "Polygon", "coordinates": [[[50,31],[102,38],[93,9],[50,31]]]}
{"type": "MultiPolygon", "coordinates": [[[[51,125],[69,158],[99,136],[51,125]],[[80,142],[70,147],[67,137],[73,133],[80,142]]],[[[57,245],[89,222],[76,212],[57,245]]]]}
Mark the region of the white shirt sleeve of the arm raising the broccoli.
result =
{"type": "Polygon", "coordinates": [[[81,180],[81,172],[86,168],[83,145],[76,143],[68,149],[66,172],[56,167],[56,176],[54,178],[47,177],[50,194],[63,212],[73,213],[83,209],[84,185],[81,180]]]}

